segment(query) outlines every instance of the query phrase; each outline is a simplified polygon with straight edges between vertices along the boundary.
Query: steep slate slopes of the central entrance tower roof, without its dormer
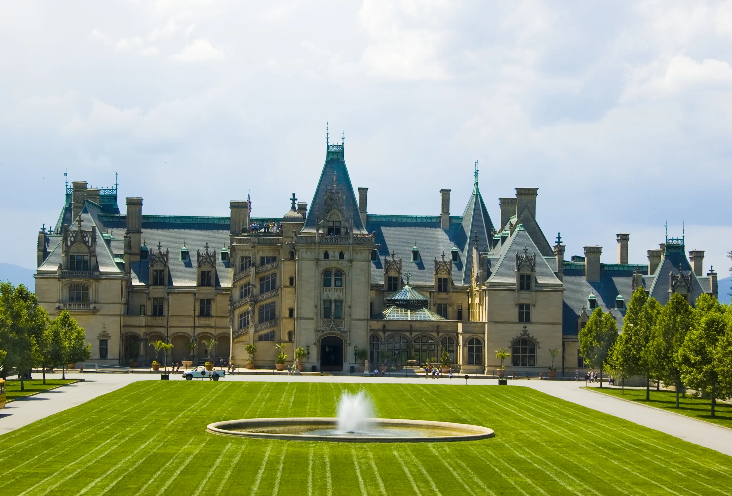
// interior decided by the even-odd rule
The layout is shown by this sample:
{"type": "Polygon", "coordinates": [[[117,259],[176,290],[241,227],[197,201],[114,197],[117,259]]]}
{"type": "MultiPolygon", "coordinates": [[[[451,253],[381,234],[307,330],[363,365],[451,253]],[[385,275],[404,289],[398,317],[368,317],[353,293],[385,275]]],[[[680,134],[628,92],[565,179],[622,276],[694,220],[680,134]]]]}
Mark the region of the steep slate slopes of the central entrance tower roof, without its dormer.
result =
{"type": "Polygon", "coordinates": [[[354,195],[354,187],[351,186],[351,178],[348,176],[346,162],[343,159],[343,144],[330,145],[326,143],[326,160],[323,165],[318,187],[315,188],[313,203],[310,203],[310,210],[307,212],[305,226],[302,228],[304,232],[313,233],[318,230],[315,217],[323,220],[328,212],[324,212],[324,201],[326,196],[326,187],[337,186],[345,195],[346,211],[343,214],[343,220],[353,222],[354,233],[365,234],[367,231],[359,214],[359,204],[356,202],[354,195]],[[334,181],[335,180],[335,181],[334,181]]]}

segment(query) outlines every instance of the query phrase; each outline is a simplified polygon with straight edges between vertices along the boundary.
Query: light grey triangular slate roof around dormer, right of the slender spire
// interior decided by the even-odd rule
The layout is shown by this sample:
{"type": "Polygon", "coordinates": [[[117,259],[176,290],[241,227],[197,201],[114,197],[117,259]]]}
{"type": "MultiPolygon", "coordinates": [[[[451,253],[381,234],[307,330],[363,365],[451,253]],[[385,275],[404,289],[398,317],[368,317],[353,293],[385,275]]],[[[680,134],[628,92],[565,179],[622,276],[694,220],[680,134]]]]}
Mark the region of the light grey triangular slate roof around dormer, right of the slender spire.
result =
{"type": "Polygon", "coordinates": [[[523,225],[518,225],[510,238],[496,250],[500,253],[498,262],[493,264],[492,273],[488,277],[487,284],[515,284],[516,283],[516,254],[536,255],[534,259],[534,274],[538,285],[556,285],[561,287],[561,281],[554,275],[554,270],[549,266],[547,260],[542,257],[537,245],[524,230],[523,225]]]}

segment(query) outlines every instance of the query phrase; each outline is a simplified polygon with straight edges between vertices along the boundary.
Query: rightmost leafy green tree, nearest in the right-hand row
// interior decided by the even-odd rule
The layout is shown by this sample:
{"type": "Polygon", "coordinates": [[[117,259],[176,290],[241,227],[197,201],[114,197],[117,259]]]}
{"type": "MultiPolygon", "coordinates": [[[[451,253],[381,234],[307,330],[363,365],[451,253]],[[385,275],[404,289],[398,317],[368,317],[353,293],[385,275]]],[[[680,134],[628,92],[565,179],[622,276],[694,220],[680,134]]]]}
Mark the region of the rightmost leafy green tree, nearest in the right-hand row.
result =
{"type": "MultiPolygon", "coordinates": [[[[724,383],[720,377],[720,342],[730,328],[729,312],[724,312],[716,298],[701,294],[696,301],[694,325],[684,338],[678,352],[681,363],[681,380],[712,399],[712,413],[717,399],[725,397],[724,383]]],[[[727,350],[728,353],[728,350],[727,350]]]]}

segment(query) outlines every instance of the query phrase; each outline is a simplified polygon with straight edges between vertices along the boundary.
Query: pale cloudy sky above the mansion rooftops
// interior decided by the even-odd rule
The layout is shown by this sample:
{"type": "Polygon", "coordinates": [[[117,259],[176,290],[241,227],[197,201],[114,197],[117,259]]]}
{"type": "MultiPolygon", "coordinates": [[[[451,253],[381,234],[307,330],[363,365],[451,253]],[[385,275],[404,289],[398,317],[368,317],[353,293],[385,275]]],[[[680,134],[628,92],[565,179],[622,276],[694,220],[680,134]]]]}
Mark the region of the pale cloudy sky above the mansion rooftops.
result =
{"type": "Polygon", "coordinates": [[[372,214],[463,212],[539,187],[568,255],[681,235],[732,249],[732,3],[106,1],[0,4],[0,262],[34,267],[72,180],[119,173],[145,214],[310,203],[346,133],[372,214]]]}

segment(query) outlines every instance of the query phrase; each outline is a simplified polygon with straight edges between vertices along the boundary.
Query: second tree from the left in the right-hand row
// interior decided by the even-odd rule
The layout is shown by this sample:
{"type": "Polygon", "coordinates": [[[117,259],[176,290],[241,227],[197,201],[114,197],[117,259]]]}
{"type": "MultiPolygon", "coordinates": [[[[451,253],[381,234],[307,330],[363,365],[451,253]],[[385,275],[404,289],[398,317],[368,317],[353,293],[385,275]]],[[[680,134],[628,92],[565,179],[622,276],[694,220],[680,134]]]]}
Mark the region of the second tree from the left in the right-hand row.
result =
{"type": "Polygon", "coordinates": [[[661,305],[655,298],[646,296],[643,288],[638,288],[630,298],[623,332],[618,337],[610,356],[610,368],[621,372],[624,377],[643,375],[646,377],[646,400],[651,399],[651,353],[649,343],[651,334],[660,313],[661,305]]]}

